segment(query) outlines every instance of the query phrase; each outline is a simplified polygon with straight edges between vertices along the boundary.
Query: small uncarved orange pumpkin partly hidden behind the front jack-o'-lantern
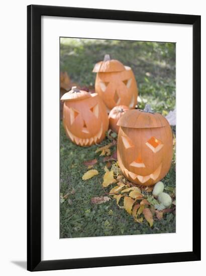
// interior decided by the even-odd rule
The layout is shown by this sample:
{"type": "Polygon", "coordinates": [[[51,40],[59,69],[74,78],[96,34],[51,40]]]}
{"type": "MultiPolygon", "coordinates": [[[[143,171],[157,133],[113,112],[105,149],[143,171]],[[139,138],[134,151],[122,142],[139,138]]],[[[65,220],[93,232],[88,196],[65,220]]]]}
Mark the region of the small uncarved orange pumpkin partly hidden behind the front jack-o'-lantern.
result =
{"type": "Polygon", "coordinates": [[[109,122],[110,122],[110,128],[112,131],[118,133],[119,131],[119,125],[117,125],[118,120],[120,117],[129,110],[129,107],[126,105],[118,105],[115,106],[109,114],[109,122]]]}

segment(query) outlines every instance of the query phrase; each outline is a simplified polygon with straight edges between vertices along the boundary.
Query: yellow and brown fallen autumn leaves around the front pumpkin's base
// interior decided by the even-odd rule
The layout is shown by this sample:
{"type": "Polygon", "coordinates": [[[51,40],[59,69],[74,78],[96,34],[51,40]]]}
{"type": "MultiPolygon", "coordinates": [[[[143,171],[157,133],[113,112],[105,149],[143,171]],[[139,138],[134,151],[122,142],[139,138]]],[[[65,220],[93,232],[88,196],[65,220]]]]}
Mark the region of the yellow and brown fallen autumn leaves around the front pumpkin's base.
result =
{"type": "MultiPolygon", "coordinates": [[[[111,136],[110,132],[110,136],[111,136]]],[[[116,200],[116,203],[120,209],[125,209],[125,211],[133,216],[134,221],[138,223],[143,223],[146,220],[149,223],[149,226],[152,227],[154,219],[161,220],[163,219],[164,213],[174,212],[175,211],[175,190],[172,187],[166,187],[172,200],[171,208],[166,208],[163,204],[159,203],[152,195],[153,187],[151,186],[135,186],[129,182],[121,173],[120,167],[117,162],[117,150],[116,150],[116,141],[117,137],[113,137],[112,143],[105,145],[104,147],[98,148],[95,153],[101,156],[105,156],[103,162],[112,162],[111,170],[108,169],[108,166],[105,166],[105,174],[103,176],[102,189],[105,191],[107,197],[94,197],[91,199],[93,204],[105,203],[108,198],[113,198],[116,200]],[[115,147],[113,154],[111,153],[111,148],[115,147]],[[112,186],[113,185],[113,186],[112,186]],[[110,191],[106,191],[110,186],[110,191]],[[112,186],[112,189],[111,189],[112,186]]],[[[87,168],[92,167],[98,162],[97,159],[85,161],[84,165],[88,166],[87,168]]],[[[97,170],[88,170],[83,176],[83,180],[88,180],[93,176],[97,175],[97,170]]]]}

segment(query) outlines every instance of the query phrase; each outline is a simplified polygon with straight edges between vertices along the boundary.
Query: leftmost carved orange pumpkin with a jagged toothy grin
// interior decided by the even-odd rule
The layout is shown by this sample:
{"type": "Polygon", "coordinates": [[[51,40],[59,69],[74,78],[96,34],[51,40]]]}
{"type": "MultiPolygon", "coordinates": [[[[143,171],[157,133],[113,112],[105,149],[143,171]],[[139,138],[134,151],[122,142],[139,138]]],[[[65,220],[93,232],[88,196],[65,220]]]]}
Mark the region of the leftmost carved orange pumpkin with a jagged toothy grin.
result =
{"type": "Polygon", "coordinates": [[[109,119],[106,106],[96,93],[72,87],[61,100],[64,102],[63,125],[74,144],[91,146],[105,138],[109,119]]]}

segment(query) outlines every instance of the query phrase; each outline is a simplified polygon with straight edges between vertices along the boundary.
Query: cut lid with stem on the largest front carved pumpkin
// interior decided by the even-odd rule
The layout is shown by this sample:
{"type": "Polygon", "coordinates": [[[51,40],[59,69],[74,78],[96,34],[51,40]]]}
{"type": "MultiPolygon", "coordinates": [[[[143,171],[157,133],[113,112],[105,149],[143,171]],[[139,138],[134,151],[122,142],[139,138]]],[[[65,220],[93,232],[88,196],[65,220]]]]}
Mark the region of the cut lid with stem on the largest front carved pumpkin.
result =
{"type": "Polygon", "coordinates": [[[117,125],[132,128],[150,128],[168,125],[168,121],[160,113],[153,112],[149,104],[146,104],[144,110],[131,109],[125,112],[118,120],[117,125]]]}

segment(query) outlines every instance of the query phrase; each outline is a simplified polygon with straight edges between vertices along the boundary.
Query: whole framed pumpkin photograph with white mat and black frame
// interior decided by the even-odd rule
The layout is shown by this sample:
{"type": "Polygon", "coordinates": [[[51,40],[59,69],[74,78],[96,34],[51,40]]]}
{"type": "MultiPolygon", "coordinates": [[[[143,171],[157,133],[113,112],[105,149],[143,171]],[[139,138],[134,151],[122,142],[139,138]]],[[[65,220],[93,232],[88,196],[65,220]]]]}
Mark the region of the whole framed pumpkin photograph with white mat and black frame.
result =
{"type": "Polygon", "coordinates": [[[200,260],[200,16],[28,6],[28,270],[200,260]]]}

